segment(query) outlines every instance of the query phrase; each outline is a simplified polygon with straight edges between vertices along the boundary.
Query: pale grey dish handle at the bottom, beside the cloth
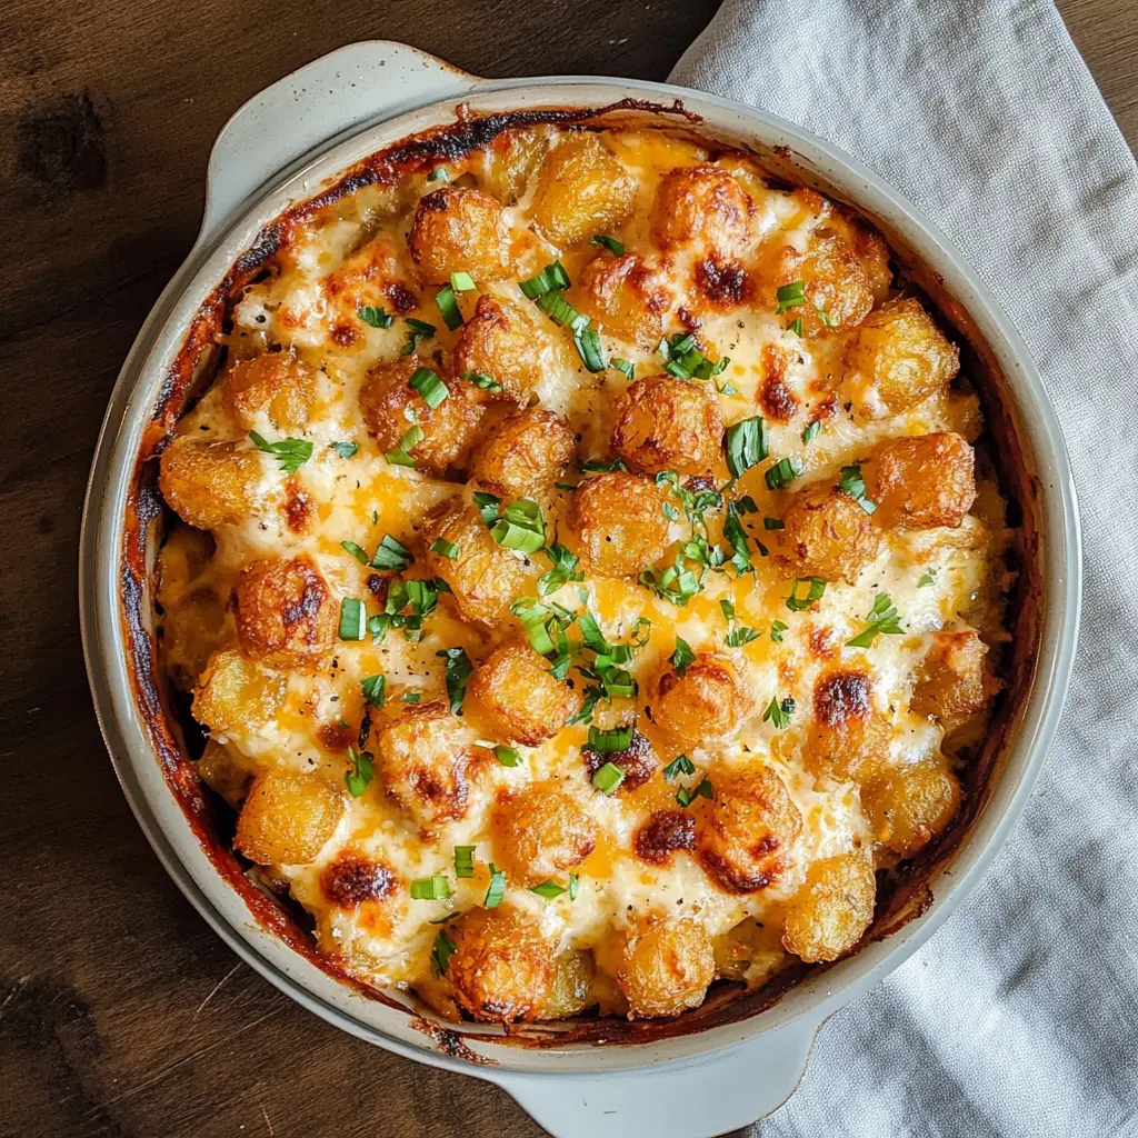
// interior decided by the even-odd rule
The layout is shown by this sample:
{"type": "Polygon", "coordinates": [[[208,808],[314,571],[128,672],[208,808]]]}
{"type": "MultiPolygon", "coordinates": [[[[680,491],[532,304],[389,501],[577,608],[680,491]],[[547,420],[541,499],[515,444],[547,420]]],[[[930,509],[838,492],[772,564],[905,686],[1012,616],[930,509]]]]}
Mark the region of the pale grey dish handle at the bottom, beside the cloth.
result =
{"type": "Polygon", "coordinates": [[[490,1078],[553,1138],[711,1138],[790,1098],[816,1031],[815,1023],[790,1023],[690,1066],[490,1078]]]}

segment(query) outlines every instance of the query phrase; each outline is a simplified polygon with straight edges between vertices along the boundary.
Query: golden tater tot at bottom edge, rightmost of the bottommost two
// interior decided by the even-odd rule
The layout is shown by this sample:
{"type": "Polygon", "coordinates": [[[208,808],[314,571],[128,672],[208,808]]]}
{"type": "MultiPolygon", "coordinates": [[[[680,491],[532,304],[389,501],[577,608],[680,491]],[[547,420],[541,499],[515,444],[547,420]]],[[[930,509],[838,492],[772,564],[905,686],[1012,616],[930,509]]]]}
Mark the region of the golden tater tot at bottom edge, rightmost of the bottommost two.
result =
{"type": "Polygon", "coordinates": [[[657,921],[625,942],[617,983],[628,1017],[679,1015],[703,1003],[715,979],[715,950],[694,921],[657,921]]]}

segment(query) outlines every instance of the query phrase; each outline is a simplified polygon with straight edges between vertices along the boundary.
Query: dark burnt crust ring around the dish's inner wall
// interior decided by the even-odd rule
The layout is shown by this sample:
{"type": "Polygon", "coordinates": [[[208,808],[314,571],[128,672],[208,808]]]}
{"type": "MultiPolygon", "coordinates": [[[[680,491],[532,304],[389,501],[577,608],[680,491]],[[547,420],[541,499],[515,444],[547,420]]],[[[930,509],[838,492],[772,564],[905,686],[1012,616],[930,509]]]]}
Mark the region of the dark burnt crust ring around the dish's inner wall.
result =
{"type": "MultiPolygon", "coordinates": [[[[222,329],[232,298],[257,277],[271,257],[288,246],[297,228],[314,213],[364,187],[393,184],[405,174],[420,172],[440,159],[462,157],[488,145],[509,129],[555,123],[569,129],[600,130],[632,122],[642,129],[667,129],[703,146],[711,143],[712,151],[718,155],[744,152],[757,159],[773,175],[772,181],[776,184],[819,189],[880,231],[907,283],[930,298],[940,319],[959,337],[962,362],[973,381],[986,418],[986,436],[978,444],[978,451],[983,442],[989,442],[995,444],[992,450],[999,455],[999,461],[991,461],[990,464],[1007,502],[1008,525],[1016,529],[1019,538],[1011,550],[1015,561],[1011,568],[1016,574],[1015,585],[1008,595],[1012,640],[1001,660],[1007,684],[997,699],[982,749],[970,757],[971,761],[962,772],[963,797],[956,817],[946,832],[915,858],[896,869],[879,871],[874,921],[850,956],[868,943],[891,937],[921,917],[932,905],[932,882],[942,873],[950,875],[948,865],[953,856],[989,801],[997,768],[1003,765],[1006,744],[1034,678],[1045,599],[1039,567],[1039,516],[1044,487],[1021,443],[1021,429],[1008,385],[995,353],[964,306],[948,291],[940,274],[924,266],[912,253],[907,254],[906,242],[896,230],[855,203],[844,200],[843,195],[824,179],[814,178],[795,163],[789,148],[745,148],[737,142],[715,142],[709,133],[699,130],[701,116],[687,110],[679,99],[670,106],[629,98],[600,108],[538,108],[478,117],[469,116],[465,105],[460,104],[454,123],[429,129],[368,156],[314,197],[282,212],[261,229],[249,248],[233,262],[199,306],[163,379],[134,459],[117,572],[131,692],[165,781],[203,852],[225,883],[241,897],[256,923],[327,975],[370,999],[405,1013],[410,1024],[430,1039],[436,1049],[472,1064],[493,1064],[496,1061],[471,1050],[464,1042],[467,1040],[513,1042],[538,1048],[570,1044],[641,1044],[739,1023],[774,1006],[803,979],[816,976],[833,965],[793,964],[750,992],[740,982],[718,981],[702,1006],[671,1020],[627,1021],[583,1016],[554,1024],[512,1024],[494,1030],[477,1024],[462,1024],[455,1030],[454,1025],[438,1021],[426,1007],[409,1007],[384,990],[347,974],[336,960],[316,950],[298,906],[271,894],[250,880],[246,866],[225,840],[226,830],[231,826],[222,814],[228,808],[223,808],[221,800],[200,782],[196,764],[189,754],[184,736],[188,712],[176,707],[159,666],[151,620],[154,553],[167,509],[158,493],[155,460],[165,448],[174,424],[216,373],[218,352],[214,338],[222,329]],[[634,118],[640,115],[648,116],[648,121],[634,118]]],[[[993,454],[989,453],[988,457],[993,460],[993,454]]]]}

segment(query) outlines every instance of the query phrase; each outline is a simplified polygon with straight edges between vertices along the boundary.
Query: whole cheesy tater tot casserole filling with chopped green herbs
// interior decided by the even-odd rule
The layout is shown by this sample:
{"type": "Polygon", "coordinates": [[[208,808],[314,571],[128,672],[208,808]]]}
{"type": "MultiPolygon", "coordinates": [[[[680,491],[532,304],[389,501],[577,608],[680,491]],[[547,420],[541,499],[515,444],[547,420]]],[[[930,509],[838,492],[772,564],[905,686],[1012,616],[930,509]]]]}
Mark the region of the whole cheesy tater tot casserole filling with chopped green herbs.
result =
{"type": "Polygon", "coordinates": [[[1017,513],[852,211],[690,125],[465,138],[221,287],[155,448],[166,698],[339,974],[691,1014],[857,951],[978,792],[1017,513]]]}

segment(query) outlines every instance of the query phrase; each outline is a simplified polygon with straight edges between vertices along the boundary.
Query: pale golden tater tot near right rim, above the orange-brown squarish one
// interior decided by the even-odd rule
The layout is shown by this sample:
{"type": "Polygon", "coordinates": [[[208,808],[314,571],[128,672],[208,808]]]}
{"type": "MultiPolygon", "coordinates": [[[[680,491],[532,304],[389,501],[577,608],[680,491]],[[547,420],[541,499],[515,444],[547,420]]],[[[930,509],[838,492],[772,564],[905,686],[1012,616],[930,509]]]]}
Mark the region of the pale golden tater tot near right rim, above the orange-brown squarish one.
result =
{"type": "Polygon", "coordinates": [[[846,349],[842,390],[865,419],[908,411],[960,370],[959,351],[920,300],[889,300],[858,327],[846,349]]]}

